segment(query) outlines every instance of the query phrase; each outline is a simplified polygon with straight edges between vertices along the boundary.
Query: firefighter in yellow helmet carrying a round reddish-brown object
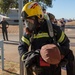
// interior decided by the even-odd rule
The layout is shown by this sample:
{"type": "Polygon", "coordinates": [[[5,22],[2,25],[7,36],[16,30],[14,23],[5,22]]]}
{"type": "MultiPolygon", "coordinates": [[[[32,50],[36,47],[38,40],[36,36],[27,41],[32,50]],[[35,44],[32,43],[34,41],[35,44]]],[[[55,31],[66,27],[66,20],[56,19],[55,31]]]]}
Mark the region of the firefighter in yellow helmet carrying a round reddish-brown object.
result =
{"type": "Polygon", "coordinates": [[[49,35],[48,21],[37,2],[26,3],[21,16],[26,32],[19,42],[18,51],[27,75],[61,75],[61,65],[67,64],[70,53],[70,41],[66,34],[52,23],[55,39],[49,35]],[[67,60],[65,63],[64,59],[67,60]]]}

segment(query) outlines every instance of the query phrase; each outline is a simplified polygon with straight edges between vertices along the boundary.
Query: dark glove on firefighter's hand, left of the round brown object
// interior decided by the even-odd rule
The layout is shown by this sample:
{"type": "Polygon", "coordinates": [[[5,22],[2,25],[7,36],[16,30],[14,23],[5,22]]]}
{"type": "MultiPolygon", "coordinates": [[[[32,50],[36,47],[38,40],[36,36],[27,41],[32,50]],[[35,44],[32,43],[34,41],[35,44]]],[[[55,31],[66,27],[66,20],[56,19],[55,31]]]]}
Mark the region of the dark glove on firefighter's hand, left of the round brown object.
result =
{"type": "Polygon", "coordinates": [[[31,66],[37,64],[38,57],[39,57],[39,51],[38,50],[30,51],[30,52],[25,53],[22,56],[22,61],[24,62],[25,67],[28,68],[28,67],[31,67],[31,66]]]}

